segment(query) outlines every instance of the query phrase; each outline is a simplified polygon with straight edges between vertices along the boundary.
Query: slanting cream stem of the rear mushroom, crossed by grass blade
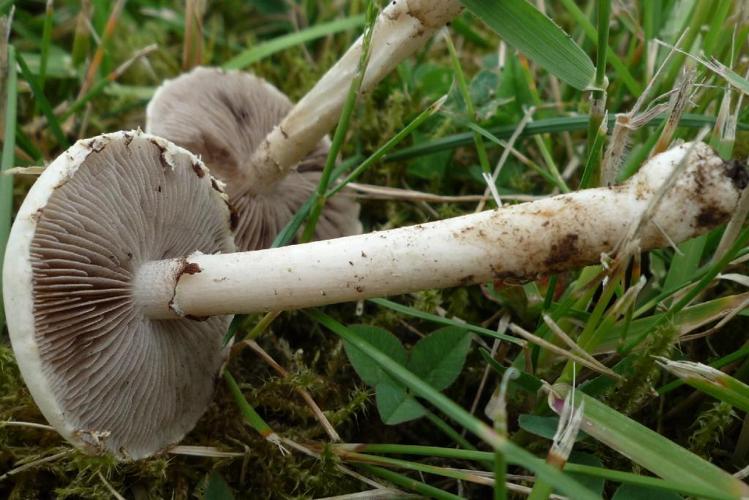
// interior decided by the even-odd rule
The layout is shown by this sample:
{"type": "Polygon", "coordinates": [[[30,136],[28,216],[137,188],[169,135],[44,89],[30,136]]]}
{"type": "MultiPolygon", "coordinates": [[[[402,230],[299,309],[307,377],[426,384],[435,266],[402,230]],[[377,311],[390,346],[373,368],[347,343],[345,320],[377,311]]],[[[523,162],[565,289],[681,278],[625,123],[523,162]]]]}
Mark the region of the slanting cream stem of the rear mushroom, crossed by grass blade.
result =
{"type": "MultiPolygon", "coordinates": [[[[374,26],[361,92],[370,91],[461,9],[458,0],[390,2],[374,26]]],[[[268,134],[245,165],[245,190],[260,193],[270,189],[333,128],[356,72],[361,48],[360,37],[268,134]]]]}

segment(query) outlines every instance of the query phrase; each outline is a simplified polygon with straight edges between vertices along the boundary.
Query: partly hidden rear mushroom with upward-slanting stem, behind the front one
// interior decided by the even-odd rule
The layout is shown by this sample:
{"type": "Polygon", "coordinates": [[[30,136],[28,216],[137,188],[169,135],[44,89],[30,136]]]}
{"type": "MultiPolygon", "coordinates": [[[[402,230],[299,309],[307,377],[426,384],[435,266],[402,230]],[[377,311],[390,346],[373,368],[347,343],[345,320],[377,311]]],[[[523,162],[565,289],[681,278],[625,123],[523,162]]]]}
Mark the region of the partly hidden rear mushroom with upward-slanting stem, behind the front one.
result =
{"type": "MultiPolygon", "coordinates": [[[[389,2],[373,27],[360,92],[374,88],[462,9],[459,0],[389,2]]],[[[362,40],[293,108],[267,82],[208,68],[167,82],[149,103],[146,130],[201,154],[227,182],[239,215],[240,250],[270,246],[314,190],[329,147],[326,134],[340,116],[362,40]]],[[[345,193],[328,200],[316,238],[360,233],[358,210],[345,193]]]]}

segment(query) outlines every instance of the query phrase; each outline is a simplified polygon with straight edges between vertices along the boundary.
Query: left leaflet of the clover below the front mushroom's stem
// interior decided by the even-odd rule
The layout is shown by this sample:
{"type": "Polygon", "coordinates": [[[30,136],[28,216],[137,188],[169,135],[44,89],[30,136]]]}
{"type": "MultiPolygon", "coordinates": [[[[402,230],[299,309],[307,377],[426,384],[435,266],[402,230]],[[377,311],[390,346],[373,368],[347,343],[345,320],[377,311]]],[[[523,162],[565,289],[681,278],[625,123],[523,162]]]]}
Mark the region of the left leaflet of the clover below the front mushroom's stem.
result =
{"type": "MultiPolygon", "coordinates": [[[[353,335],[361,337],[397,363],[406,366],[406,350],[401,345],[400,340],[389,331],[369,325],[350,325],[348,328],[353,335]]],[[[349,361],[351,361],[351,365],[354,367],[354,371],[356,371],[365,384],[377,387],[383,382],[394,383],[379,365],[360,349],[348,341],[344,341],[343,346],[346,349],[346,355],[349,361]]]]}

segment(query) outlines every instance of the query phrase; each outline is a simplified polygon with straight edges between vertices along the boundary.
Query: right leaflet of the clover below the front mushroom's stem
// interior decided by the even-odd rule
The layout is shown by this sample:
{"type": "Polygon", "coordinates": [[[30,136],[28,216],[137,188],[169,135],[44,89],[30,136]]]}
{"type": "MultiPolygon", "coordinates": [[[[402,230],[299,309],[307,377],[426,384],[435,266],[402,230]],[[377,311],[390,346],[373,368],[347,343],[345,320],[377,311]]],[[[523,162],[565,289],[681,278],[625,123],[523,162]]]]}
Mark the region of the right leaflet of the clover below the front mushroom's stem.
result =
{"type": "Polygon", "coordinates": [[[471,348],[471,335],[463,328],[446,326],[419,340],[406,365],[438,391],[455,382],[471,348]]]}

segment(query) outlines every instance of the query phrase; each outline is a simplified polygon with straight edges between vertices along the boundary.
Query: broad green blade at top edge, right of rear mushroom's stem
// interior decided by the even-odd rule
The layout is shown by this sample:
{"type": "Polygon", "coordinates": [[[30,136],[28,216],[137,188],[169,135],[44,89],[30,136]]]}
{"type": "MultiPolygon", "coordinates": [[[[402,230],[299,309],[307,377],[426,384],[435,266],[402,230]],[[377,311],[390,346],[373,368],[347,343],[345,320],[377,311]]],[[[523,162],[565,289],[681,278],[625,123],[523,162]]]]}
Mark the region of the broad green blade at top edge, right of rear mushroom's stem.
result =
{"type": "Polygon", "coordinates": [[[579,90],[592,88],[596,68],[588,55],[527,0],[461,0],[507,43],[579,90]]]}

